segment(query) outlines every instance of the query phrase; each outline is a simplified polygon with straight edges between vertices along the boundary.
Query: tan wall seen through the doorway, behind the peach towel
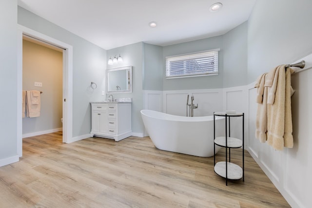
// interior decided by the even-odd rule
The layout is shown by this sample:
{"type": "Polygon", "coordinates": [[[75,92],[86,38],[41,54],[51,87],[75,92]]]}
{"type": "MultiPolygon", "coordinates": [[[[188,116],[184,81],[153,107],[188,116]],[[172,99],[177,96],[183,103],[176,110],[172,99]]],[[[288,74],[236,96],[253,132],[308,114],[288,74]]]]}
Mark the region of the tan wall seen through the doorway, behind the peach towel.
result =
{"type": "Polygon", "coordinates": [[[23,137],[62,127],[62,62],[62,52],[23,39],[23,90],[43,92],[40,116],[23,118],[23,137]]]}

